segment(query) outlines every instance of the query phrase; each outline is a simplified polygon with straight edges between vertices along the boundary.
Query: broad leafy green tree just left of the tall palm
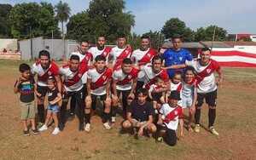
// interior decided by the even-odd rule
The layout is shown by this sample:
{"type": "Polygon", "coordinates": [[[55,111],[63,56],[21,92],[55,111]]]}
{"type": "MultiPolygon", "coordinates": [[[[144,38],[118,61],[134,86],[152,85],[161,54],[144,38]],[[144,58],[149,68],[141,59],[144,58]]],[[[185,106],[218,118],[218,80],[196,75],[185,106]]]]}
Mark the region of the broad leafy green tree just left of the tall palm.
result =
{"type": "Polygon", "coordinates": [[[9,14],[11,34],[15,38],[59,36],[58,21],[50,3],[19,3],[9,14]]]}

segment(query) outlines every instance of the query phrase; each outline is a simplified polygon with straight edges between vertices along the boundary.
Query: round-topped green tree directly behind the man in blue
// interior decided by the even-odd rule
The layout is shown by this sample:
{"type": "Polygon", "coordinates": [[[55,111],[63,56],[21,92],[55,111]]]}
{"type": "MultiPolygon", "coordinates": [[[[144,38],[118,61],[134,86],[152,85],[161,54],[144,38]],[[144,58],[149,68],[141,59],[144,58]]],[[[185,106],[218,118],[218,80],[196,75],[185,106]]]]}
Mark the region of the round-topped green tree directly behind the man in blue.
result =
{"type": "Polygon", "coordinates": [[[186,26],[185,22],[178,18],[172,18],[167,20],[165,25],[162,27],[161,32],[166,38],[179,35],[183,37],[184,41],[191,42],[194,40],[194,32],[186,26]]]}

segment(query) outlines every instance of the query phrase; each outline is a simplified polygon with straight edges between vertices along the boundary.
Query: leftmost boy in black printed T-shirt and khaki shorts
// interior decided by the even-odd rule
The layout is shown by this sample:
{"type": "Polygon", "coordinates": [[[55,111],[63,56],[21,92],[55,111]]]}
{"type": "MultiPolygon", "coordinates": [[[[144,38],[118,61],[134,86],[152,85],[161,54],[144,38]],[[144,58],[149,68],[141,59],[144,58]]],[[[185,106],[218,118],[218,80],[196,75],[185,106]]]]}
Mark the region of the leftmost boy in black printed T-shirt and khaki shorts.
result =
{"type": "Polygon", "coordinates": [[[15,82],[14,92],[20,93],[21,121],[23,123],[23,134],[30,135],[27,124],[32,123],[32,133],[38,134],[35,124],[34,93],[36,92],[35,81],[31,75],[31,68],[27,64],[20,65],[20,77],[15,82]]]}

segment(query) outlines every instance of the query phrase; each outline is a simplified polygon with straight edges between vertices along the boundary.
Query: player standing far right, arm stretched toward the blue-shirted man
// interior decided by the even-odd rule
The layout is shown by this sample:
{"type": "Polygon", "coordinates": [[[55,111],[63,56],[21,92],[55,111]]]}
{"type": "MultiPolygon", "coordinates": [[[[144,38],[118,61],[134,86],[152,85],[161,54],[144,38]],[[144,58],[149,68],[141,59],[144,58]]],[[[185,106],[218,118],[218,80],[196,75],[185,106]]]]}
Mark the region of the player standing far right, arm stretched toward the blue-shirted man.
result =
{"type": "Polygon", "coordinates": [[[218,135],[213,124],[216,118],[216,99],[217,88],[223,81],[223,74],[218,62],[211,59],[211,50],[208,48],[201,49],[200,59],[189,61],[183,65],[172,66],[172,68],[184,68],[186,66],[194,67],[196,71],[197,85],[197,102],[195,106],[195,132],[200,132],[201,106],[206,99],[209,107],[208,127],[212,134],[218,135]],[[218,73],[218,78],[214,73],[218,73]]]}

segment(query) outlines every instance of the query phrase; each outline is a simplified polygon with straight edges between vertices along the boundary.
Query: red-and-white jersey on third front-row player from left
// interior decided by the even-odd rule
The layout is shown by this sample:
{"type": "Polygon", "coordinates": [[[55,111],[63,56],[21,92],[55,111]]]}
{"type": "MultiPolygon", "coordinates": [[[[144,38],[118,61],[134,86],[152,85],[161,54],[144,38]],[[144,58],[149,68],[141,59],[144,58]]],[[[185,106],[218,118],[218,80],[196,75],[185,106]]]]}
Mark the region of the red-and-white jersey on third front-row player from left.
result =
{"type": "Polygon", "coordinates": [[[87,78],[91,79],[90,90],[91,94],[103,95],[106,94],[106,86],[108,81],[111,80],[112,70],[106,68],[105,71],[99,73],[96,71],[96,68],[90,69],[87,71],[87,78]]]}

